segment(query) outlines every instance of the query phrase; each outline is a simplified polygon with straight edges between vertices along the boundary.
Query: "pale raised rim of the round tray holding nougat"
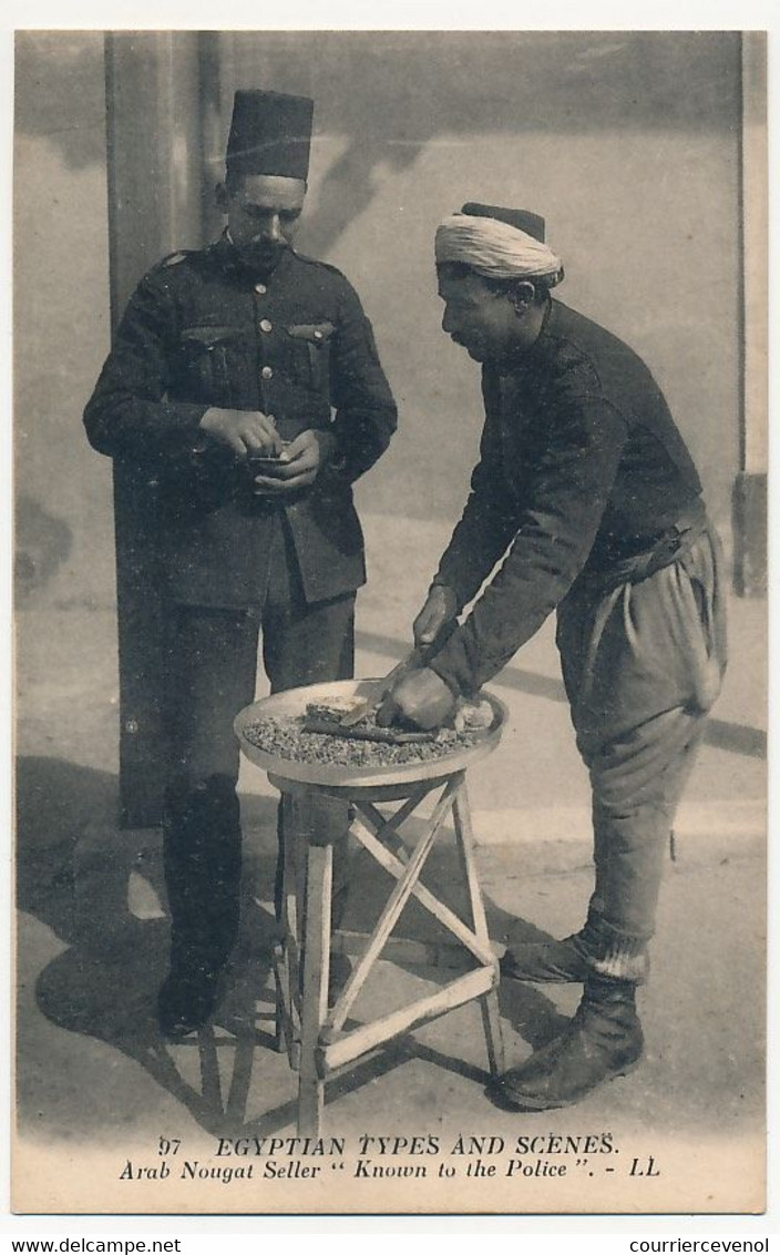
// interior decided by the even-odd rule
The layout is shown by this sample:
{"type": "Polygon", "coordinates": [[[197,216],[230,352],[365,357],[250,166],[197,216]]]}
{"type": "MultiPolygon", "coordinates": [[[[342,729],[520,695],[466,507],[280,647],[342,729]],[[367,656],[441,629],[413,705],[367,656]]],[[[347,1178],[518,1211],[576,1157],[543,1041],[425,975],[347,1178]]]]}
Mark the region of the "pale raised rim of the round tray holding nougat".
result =
{"type": "Polygon", "coordinates": [[[252,763],[262,767],[265,772],[280,779],[344,789],[382,784],[414,784],[416,781],[440,779],[446,776],[454,776],[455,772],[465,771],[472,763],[485,758],[498,745],[507,720],[507,708],[503,702],[499,702],[490,693],[482,693],[480,697],[485,698],[493,707],[493,723],[484,732],[479,733],[479,739],[473,745],[459,745],[451,753],[441,754],[426,762],[391,763],[386,767],[300,763],[292,758],[280,758],[276,754],[267,754],[247,739],[246,728],[258,719],[268,717],[282,719],[296,718],[306,714],[306,707],[312,702],[327,704],[332,700],[352,697],[375,698],[382,683],[382,680],[331,680],[326,684],[307,684],[301,689],[287,689],[285,693],[275,693],[272,697],[253,702],[252,705],[245,707],[233,722],[241,749],[252,763]]]}

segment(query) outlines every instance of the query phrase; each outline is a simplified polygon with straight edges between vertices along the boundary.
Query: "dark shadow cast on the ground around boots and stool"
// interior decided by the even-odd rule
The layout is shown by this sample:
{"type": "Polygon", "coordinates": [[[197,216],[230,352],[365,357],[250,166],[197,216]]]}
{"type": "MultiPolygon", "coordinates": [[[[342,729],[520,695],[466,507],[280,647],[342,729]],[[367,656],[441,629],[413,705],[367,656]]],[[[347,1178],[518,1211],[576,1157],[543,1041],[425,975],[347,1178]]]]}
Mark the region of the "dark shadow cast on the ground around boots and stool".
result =
{"type": "MultiPolygon", "coordinates": [[[[276,851],[276,807],[272,798],[245,799],[245,902],[242,937],[224,976],[224,990],[214,1023],[186,1043],[161,1039],[154,1019],[158,985],[164,975],[167,920],[138,919],[128,907],[128,882],[143,875],[164,899],[159,842],[139,850],[115,826],[117,781],[108,773],[59,759],[23,758],[18,766],[18,900],[66,946],[35,980],[35,1003],[46,1019],[69,1033],[103,1042],[140,1064],[207,1132],[266,1135],[295,1121],[295,1099],[248,1118],[252,1072],[261,1052],[276,1050],[275,1007],[271,990],[270,948],[275,921],[258,899],[270,897],[276,851]],[[227,1058],[226,1058],[227,1055],[227,1058]]],[[[424,880],[453,909],[464,902],[456,891],[458,855],[454,846],[435,848],[424,880]]],[[[391,881],[359,851],[352,861],[352,894],[345,926],[370,931],[391,881]]],[[[547,934],[487,902],[490,935],[509,930],[517,940],[543,940],[547,934]]],[[[425,941],[446,937],[441,926],[416,902],[409,904],[399,935],[425,941]]],[[[404,964],[399,964],[404,966],[404,964]]],[[[451,969],[408,969],[444,984],[451,969]]],[[[403,979],[403,978],[399,978],[403,979]]],[[[502,1013],[525,1040],[537,1047],[549,1040],[563,1018],[538,990],[502,990],[502,1013]]],[[[351,1024],[347,1024],[351,1027],[351,1024]]],[[[327,1086],[327,1098],[360,1089],[413,1059],[484,1084],[480,1068],[445,1054],[410,1035],[395,1039],[327,1086]]],[[[19,1060],[20,1121],[25,1060],[19,1060]]],[[[115,1112],[107,1112],[107,1121],[115,1112]]],[[[76,1121],[78,1123],[78,1121],[76,1121]]]]}

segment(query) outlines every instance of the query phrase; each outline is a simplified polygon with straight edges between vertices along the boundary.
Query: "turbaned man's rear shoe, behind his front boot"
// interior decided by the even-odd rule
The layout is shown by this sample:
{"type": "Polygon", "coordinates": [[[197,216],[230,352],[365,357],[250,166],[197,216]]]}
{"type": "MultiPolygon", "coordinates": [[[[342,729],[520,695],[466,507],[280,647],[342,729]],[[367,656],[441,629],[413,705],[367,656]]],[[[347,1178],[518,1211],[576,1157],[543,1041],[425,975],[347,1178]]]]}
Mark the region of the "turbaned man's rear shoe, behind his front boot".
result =
{"type": "MultiPolygon", "coordinates": [[[[584,927],[561,941],[535,941],[508,946],[499,960],[500,974],[508,980],[532,984],[584,981],[609,963],[611,946],[599,931],[597,916],[588,915],[584,927]]],[[[646,951],[631,956],[631,980],[643,985],[650,974],[646,951]]]]}

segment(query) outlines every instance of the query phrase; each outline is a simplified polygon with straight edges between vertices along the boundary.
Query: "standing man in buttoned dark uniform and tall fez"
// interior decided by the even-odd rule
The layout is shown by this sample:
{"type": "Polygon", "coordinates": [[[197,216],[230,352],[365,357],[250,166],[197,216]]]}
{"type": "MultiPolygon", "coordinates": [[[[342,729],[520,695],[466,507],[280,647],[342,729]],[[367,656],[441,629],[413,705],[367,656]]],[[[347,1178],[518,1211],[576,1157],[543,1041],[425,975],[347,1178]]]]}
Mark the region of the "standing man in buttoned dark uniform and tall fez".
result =
{"type": "MultiPolygon", "coordinates": [[[[352,675],[351,484],[396,423],[357,295],[292,248],[311,122],[308,99],[236,93],[227,230],[144,276],[84,413],[94,448],[147,468],[162,501],[171,1037],[208,1019],[237,934],[232,722],[255,695],[258,636],[273,692],[352,675]]],[[[341,830],[344,814],[317,822],[341,830]]]]}

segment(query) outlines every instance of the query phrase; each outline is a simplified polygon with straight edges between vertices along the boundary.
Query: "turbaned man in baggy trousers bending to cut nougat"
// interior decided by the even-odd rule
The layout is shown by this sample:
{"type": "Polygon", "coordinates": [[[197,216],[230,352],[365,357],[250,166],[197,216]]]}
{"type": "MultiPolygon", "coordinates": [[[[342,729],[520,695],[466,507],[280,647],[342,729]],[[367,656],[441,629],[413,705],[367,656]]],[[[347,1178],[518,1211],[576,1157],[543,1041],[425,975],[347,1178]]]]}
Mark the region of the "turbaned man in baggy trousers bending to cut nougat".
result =
{"type": "Polygon", "coordinates": [[[482,456],[418,616],[428,666],[380,710],[420,727],[495,675],[557,610],[577,745],[593,792],[584,927],[508,950],[504,976],[581,981],[577,1015],[499,1079],[500,1101],[577,1102],[636,1064],[662,857],[726,661],[719,541],[647,366],[549,295],[563,277],[535,215],[466,205],[436,233],[444,330],[483,364],[482,456]],[[500,563],[494,572],[497,563],[500,563]]]}

